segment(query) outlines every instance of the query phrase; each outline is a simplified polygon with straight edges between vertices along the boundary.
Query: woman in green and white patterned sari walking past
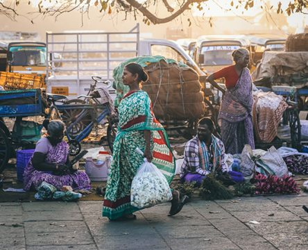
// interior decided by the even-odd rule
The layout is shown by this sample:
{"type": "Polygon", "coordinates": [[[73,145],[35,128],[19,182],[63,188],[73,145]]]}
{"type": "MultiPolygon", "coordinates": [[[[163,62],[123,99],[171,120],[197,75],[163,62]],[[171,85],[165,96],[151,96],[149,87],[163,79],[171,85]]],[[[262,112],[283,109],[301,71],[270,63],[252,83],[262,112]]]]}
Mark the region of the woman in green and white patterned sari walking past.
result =
{"type": "MultiPolygon", "coordinates": [[[[124,68],[122,81],[130,91],[118,108],[118,133],[103,201],[103,216],[110,220],[136,219],[132,213],[139,209],[130,205],[130,187],[132,178],[144,163],[144,157],[160,169],[169,183],[176,170],[164,128],[155,119],[148,94],[140,90],[140,83],[147,80],[148,75],[137,63],[130,63],[124,68]],[[137,153],[137,147],[144,151],[144,157],[137,153]]],[[[180,200],[177,190],[173,190],[172,194],[169,215],[176,215],[187,197],[180,200]]]]}

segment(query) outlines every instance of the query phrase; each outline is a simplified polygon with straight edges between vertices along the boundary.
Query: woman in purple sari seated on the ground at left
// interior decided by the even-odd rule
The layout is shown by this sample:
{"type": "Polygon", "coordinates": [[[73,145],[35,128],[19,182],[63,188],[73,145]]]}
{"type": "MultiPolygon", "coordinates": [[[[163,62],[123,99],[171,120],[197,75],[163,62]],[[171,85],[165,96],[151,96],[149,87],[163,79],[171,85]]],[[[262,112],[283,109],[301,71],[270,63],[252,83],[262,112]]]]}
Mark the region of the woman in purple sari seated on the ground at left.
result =
{"type": "Polygon", "coordinates": [[[45,181],[58,190],[70,185],[74,190],[89,190],[89,177],[68,166],[69,145],[63,140],[65,124],[59,120],[44,121],[48,136],[41,138],[33,157],[24,170],[24,190],[37,189],[45,181]]]}

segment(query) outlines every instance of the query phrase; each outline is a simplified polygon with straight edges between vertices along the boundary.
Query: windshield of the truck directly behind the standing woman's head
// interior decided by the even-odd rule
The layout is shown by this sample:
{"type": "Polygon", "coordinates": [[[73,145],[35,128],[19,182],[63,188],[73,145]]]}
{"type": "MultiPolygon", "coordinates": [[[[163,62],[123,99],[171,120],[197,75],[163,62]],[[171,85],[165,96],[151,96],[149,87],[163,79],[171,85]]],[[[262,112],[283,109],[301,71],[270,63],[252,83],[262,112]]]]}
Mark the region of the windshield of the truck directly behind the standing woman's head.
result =
{"type": "Polygon", "coordinates": [[[239,49],[239,46],[208,46],[202,47],[201,53],[204,61],[201,65],[232,65],[232,51],[239,49]]]}

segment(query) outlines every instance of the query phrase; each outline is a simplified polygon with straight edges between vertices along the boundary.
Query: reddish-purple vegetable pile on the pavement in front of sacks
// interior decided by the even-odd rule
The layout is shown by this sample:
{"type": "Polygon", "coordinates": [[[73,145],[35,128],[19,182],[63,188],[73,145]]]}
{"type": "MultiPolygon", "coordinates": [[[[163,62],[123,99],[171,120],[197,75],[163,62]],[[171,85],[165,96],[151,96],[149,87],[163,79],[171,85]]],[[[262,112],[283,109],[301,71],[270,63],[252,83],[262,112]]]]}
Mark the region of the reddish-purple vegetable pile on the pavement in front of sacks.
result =
{"type": "Polygon", "coordinates": [[[255,176],[255,194],[298,194],[300,189],[291,176],[255,176]]]}

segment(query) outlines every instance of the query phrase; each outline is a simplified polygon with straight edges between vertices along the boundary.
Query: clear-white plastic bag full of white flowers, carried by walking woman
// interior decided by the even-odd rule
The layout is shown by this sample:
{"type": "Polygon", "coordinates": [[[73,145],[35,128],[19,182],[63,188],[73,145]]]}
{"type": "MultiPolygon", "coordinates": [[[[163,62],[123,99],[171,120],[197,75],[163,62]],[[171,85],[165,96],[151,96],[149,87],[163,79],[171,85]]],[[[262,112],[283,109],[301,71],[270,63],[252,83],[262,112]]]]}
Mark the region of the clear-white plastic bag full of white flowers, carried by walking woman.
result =
{"type": "Polygon", "coordinates": [[[148,163],[144,158],[144,163],[132,179],[130,204],[136,208],[148,208],[171,199],[168,181],[153,163],[148,163]]]}

